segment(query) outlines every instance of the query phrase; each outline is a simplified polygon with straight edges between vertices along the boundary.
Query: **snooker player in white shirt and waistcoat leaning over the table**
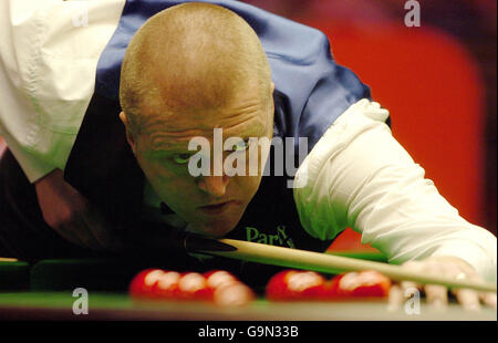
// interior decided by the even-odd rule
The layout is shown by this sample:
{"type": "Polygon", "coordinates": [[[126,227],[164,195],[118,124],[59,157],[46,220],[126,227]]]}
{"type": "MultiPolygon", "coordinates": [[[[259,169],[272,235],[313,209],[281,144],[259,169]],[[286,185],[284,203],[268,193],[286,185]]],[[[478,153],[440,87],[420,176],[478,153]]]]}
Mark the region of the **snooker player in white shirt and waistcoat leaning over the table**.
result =
{"type": "MultiPolygon", "coordinates": [[[[424,178],[323,34],[236,1],[178,2],[90,3],[87,27],[62,1],[2,2],[0,256],[122,251],[125,230],[148,235],[143,218],[315,251],[350,226],[390,262],[496,282],[496,238],[424,178]],[[263,164],[193,176],[189,142],[212,146],[216,129],[247,159],[274,153],[251,137],[307,137],[299,187],[263,164]]],[[[425,292],[447,302],[444,287],[425,292]]]]}

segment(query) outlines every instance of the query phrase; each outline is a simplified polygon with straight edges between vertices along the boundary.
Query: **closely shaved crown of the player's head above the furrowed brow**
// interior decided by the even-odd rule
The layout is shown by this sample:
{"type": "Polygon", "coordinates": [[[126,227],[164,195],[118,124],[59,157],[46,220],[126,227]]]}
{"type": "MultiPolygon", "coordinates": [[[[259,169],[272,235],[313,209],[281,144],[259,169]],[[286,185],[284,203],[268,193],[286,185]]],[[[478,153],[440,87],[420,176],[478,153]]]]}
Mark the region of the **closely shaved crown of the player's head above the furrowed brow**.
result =
{"type": "Polygon", "coordinates": [[[152,17],[123,60],[120,101],[132,133],[177,115],[203,115],[255,92],[271,102],[271,72],[256,32],[239,15],[184,3],[152,17]]]}

